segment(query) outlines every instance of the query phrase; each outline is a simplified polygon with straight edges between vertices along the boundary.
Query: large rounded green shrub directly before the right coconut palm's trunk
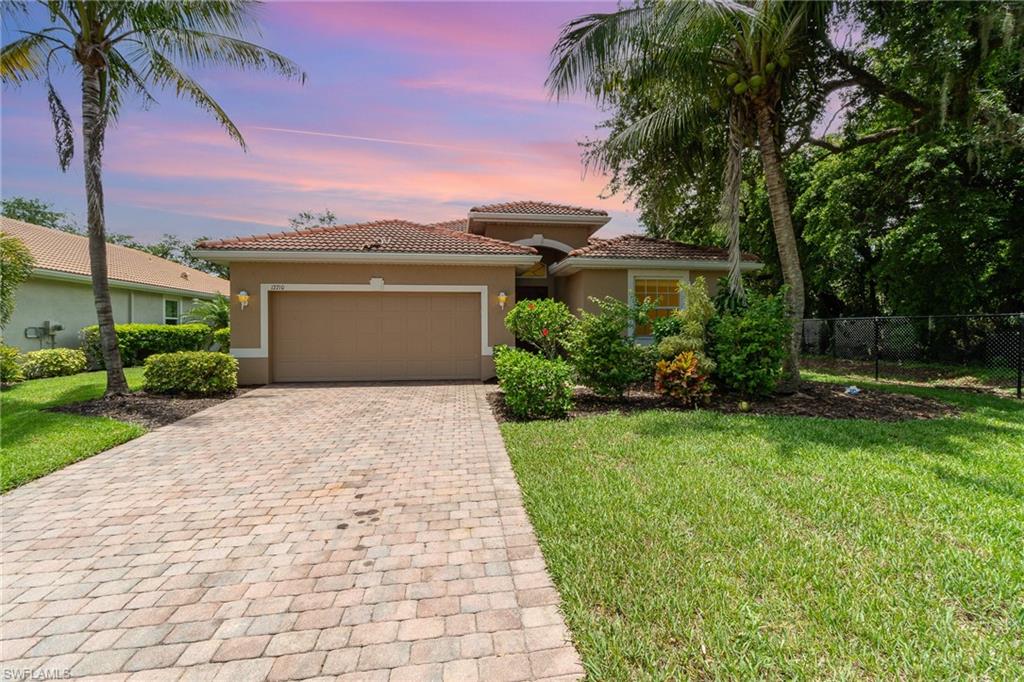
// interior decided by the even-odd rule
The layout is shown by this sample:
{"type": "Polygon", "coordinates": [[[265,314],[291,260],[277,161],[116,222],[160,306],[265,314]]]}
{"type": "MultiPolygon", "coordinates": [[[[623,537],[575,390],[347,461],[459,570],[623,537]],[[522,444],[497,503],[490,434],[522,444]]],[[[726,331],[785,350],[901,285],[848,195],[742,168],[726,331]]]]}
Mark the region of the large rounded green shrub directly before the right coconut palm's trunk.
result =
{"type": "Polygon", "coordinates": [[[715,378],[749,395],[767,395],[782,375],[792,327],[781,294],[748,293],[745,307],[719,314],[710,327],[715,378]]]}

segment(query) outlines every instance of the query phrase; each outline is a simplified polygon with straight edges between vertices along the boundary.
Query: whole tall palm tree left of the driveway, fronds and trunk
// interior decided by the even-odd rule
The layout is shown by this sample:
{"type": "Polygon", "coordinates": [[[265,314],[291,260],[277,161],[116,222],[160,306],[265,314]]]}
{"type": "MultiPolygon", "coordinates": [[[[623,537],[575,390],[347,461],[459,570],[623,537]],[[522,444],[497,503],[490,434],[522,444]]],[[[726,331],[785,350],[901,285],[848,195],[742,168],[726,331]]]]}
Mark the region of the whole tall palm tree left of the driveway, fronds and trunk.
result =
{"type": "MultiPolygon", "coordinates": [[[[67,170],[74,154],[74,128],[49,74],[60,59],[82,77],[82,146],[89,230],[92,291],[106,368],[105,395],[128,391],[114,330],[114,312],[106,278],[103,216],[102,152],[106,126],[116,121],[122,103],[138,96],[155,101],[151,88],[167,88],[210,113],[227,134],[246,146],[238,126],[220,104],[183,68],[232,67],[273,71],[305,79],[290,59],[244,39],[256,30],[253,2],[208,0],[171,2],[40,2],[49,13],[48,26],[22,31],[0,53],[4,84],[43,79],[56,133],[57,158],[67,170]]],[[[8,14],[26,11],[25,3],[6,3],[8,14]]]]}

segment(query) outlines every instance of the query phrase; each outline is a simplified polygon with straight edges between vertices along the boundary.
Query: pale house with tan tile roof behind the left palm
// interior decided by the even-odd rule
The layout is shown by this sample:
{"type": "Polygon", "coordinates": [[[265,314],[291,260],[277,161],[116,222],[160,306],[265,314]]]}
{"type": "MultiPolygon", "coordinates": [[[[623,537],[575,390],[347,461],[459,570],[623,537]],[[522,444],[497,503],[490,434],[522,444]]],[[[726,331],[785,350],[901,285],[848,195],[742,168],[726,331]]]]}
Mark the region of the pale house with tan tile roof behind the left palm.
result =
{"type": "MultiPolygon", "coordinates": [[[[4,217],[0,231],[22,240],[36,260],[14,293],[4,343],[23,351],[81,345],[79,332],[96,324],[88,238],[4,217]]],[[[106,265],[118,324],[177,325],[194,299],[229,292],[227,280],[128,247],[108,244],[106,265]]]]}

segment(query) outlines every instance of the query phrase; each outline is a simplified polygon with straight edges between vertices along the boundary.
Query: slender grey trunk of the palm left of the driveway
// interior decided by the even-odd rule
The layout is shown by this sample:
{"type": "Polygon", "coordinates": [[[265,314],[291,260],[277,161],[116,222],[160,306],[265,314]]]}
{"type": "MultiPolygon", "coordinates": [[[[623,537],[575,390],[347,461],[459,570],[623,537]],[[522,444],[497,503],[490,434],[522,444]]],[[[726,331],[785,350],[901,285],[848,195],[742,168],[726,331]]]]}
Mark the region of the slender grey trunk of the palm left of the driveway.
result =
{"type": "Polygon", "coordinates": [[[104,396],[124,395],[128,381],[121,365],[118,336],[114,329],[114,308],[106,278],[106,226],[103,217],[102,155],[106,118],[99,100],[99,67],[82,67],[82,142],[85,160],[85,197],[89,225],[89,267],[92,296],[99,323],[99,346],[106,367],[104,396]]]}

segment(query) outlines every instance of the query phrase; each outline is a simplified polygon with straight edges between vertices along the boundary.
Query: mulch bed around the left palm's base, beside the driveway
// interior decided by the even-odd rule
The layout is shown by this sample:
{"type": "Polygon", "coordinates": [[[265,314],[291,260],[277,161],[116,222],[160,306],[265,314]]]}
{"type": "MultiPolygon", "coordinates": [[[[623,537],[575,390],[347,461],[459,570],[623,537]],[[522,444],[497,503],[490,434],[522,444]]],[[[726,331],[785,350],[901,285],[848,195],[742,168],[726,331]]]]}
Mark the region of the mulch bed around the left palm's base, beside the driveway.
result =
{"type": "Polygon", "coordinates": [[[249,390],[248,388],[240,388],[233,393],[214,397],[151,395],[136,391],[118,397],[96,398],[95,400],[50,408],[50,412],[66,412],[86,417],[109,417],[119,422],[131,422],[147,429],[155,429],[158,426],[165,426],[179,419],[184,419],[201,410],[212,408],[224,400],[230,400],[249,390]]]}

